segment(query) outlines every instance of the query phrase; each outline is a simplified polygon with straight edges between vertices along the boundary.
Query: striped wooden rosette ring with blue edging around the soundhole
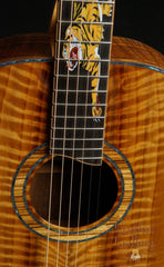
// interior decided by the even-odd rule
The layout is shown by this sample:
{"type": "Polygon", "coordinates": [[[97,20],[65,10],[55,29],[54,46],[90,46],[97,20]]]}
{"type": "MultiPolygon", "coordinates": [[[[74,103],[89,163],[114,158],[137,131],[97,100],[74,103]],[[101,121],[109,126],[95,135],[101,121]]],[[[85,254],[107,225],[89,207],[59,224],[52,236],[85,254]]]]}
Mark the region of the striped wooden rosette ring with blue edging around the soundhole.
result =
{"type": "MultiPolygon", "coordinates": [[[[98,187],[96,194],[100,194],[100,196],[103,196],[104,188],[107,188],[109,195],[113,194],[113,196],[111,198],[109,196],[107,198],[107,189],[106,189],[104,194],[105,196],[102,202],[95,204],[95,209],[92,216],[88,216],[89,209],[93,210],[94,202],[96,202],[98,198],[93,197],[92,199],[90,199],[90,204],[89,204],[89,198],[86,198],[84,202],[80,202],[81,211],[79,212],[79,211],[75,211],[73,207],[74,206],[73,204],[75,204],[75,206],[78,207],[79,201],[75,202],[75,196],[71,196],[72,198],[71,216],[69,215],[70,211],[66,214],[66,211],[64,210],[64,212],[62,214],[62,216],[60,216],[60,219],[59,219],[59,217],[55,216],[55,214],[59,214],[58,207],[60,206],[59,200],[61,198],[59,197],[57,199],[55,195],[59,194],[61,188],[59,186],[55,187],[55,184],[57,184],[57,180],[55,180],[55,182],[53,181],[54,188],[52,190],[52,197],[55,199],[55,201],[52,204],[52,207],[51,207],[52,216],[50,216],[51,219],[49,224],[48,209],[41,210],[44,204],[45,206],[49,206],[49,198],[47,198],[45,202],[42,201],[43,189],[45,189],[45,191],[49,191],[49,186],[43,186],[42,189],[38,190],[38,192],[34,194],[35,188],[38,188],[40,184],[39,182],[40,174],[45,171],[47,167],[50,168],[51,166],[51,161],[52,161],[51,156],[47,154],[47,151],[48,151],[48,147],[45,144],[43,144],[42,146],[31,151],[24,158],[24,160],[20,164],[12,182],[11,197],[12,197],[12,204],[13,204],[14,210],[18,217],[30,230],[32,230],[33,233],[35,233],[37,235],[43,238],[48,238],[48,229],[49,229],[50,240],[71,241],[71,243],[84,241],[84,240],[93,239],[95,237],[103,235],[104,233],[110,231],[125,217],[134,199],[134,192],[135,192],[134,174],[127,159],[112,145],[105,144],[104,155],[103,155],[103,171],[105,174],[109,174],[109,179],[111,177],[113,190],[109,189],[110,187],[107,187],[107,184],[105,184],[107,180],[107,176],[106,176],[105,181],[103,180],[104,187],[102,187],[100,191],[99,191],[100,188],[98,187]],[[107,201],[107,205],[103,205],[106,201],[107,201]],[[100,205],[99,208],[96,207],[98,205],[100,205]],[[88,206],[88,209],[84,215],[83,209],[86,206],[88,206]],[[68,221],[68,218],[69,218],[69,221],[68,221]],[[60,226],[59,226],[59,221],[60,221],[60,226]]],[[[58,161],[58,165],[57,162],[54,162],[55,172],[60,174],[59,177],[61,177],[61,169],[63,168],[62,159],[60,157],[54,157],[54,159],[55,161],[58,161]]],[[[73,166],[76,166],[78,175],[73,177],[73,181],[76,179],[75,182],[78,184],[78,188],[80,191],[81,179],[79,179],[78,181],[78,178],[76,178],[80,176],[79,174],[81,174],[81,171],[79,172],[80,162],[76,162],[75,160],[72,161],[72,159],[68,159],[68,158],[64,158],[64,162],[66,162],[65,165],[66,168],[68,166],[71,166],[70,169],[72,168],[72,162],[73,162],[73,166]]],[[[84,166],[84,165],[82,166],[84,171],[83,175],[85,177],[85,182],[82,185],[82,190],[83,192],[86,192],[86,190],[91,192],[93,190],[93,185],[95,186],[95,180],[96,180],[96,184],[100,182],[98,179],[95,179],[98,167],[91,168],[90,166],[84,166]],[[86,176],[86,174],[89,169],[93,171],[93,176],[92,176],[92,181],[90,180],[88,182],[86,177],[89,177],[90,175],[86,176]],[[95,180],[93,181],[93,179],[95,180]]],[[[59,177],[58,177],[58,184],[61,182],[61,178],[59,177]]],[[[64,178],[66,178],[66,175],[64,178]]],[[[44,181],[47,178],[44,178],[44,181]]],[[[64,180],[64,184],[62,182],[62,185],[64,187],[66,186],[66,189],[70,188],[70,184],[65,184],[65,180],[64,180]]],[[[68,191],[70,191],[70,189],[68,191]]],[[[72,194],[75,192],[73,188],[71,189],[71,191],[72,194]]],[[[79,198],[79,196],[80,194],[78,195],[76,199],[79,198]]],[[[66,196],[64,196],[63,199],[62,199],[63,202],[69,201],[69,198],[66,199],[66,196]]],[[[68,204],[66,206],[70,209],[70,205],[68,204]]]]}

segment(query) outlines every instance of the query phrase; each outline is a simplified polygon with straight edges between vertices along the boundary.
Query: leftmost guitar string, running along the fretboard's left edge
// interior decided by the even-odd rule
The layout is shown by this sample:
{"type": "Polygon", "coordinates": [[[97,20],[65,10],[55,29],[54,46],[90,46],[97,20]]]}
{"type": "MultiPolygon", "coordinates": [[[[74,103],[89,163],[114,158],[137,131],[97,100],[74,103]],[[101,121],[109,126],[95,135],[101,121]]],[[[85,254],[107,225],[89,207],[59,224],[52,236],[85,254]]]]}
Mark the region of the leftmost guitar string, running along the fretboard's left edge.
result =
{"type": "MultiPolygon", "coordinates": [[[[61,0],[62,2],[62,0],[61,0]]],[[[57,3],[59,4],[59,3],[57,3]]],[[[58,12],[59,17],[59,12],[58,12]]],[[[58,18],[59,19],[59,18],[58,18]]],[[[60,13],[61,19],[61,13],[60,13]]],[[[57,30],[57,34],[60,34],[61,32],[61,24],[59,26],[57,30]]],[[[55,47],[55,52],[58,49],[58,59],[57,62],[54,62],[54,71],[59,71],[59,56],[60,56],[60,42],[58,43],[58,48],[55,47]]],[[[54,81],[53,77],[53,93],[52,93],[52,103],[57,102],[58,98],[58,79],[54,81]],[[54,83],[55,83],[55,93],[54,93],[54,83]]],[[[51,206],[52,206],[52,185],[53,185],[53,158],[54,158],[54,140],[55,140],[55,119],[57,119],[57,105],[52,105],[52,117],[53,117],[53,123],[51,121],[51,125],[53,125],[53,130],[51,130],[51,141],[50,141],[50,149],[51,149],[51,170],[50,170],[50,188],[49,188],[49,211],[48,211],[48,236],[47,236],[47,253],[45,253],[45,267],[48,267],[49,264],[49,243],[50,243],[50,225],[51,225],[51,206]]]]}

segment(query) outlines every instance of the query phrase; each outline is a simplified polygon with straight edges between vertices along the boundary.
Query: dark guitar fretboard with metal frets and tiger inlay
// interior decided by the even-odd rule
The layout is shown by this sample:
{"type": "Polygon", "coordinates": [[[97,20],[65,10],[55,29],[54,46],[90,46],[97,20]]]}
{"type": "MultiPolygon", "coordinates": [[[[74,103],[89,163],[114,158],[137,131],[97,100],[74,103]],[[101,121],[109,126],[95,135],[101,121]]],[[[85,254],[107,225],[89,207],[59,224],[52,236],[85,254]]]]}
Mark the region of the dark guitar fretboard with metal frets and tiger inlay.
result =
{"type": "Polygon", "coordinates": [[[59,2],[51,151],[102,161],[113,1],[59,2]]]}

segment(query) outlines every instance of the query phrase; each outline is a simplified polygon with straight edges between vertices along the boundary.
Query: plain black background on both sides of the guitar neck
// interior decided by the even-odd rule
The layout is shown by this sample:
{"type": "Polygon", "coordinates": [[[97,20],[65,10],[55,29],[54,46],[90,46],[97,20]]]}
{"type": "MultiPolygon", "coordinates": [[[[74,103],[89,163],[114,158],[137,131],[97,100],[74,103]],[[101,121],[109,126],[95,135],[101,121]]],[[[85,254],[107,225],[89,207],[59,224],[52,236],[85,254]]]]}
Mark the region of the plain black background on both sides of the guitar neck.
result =
{"type": "MultiPolygon", "coordinates": [[[[164,0],[115,0],[114,36],[133,38],[164,53],[164,0]]],[[[47,32],[54,0],[1,0],[0,38],[47,32]]]]}

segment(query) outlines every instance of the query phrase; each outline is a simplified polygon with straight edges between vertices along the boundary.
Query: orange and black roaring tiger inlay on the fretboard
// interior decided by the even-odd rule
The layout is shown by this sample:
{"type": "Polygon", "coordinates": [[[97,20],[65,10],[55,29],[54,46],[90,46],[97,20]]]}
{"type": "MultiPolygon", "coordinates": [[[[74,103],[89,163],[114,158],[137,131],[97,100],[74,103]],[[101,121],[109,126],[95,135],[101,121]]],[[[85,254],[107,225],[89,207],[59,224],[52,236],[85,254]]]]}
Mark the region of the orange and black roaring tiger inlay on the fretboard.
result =
{"type": "Polygon", "coordinates": [[[103,24],[93,22],[102,22],[103,14],[110,17],[111,12],[112,8],[109,3],[95,3],[95,1],[93,3],[74,2],[72,20],[78,23],[72,26],[70,23],[68,27],[65,31],[66,42],[63,44],[62,50],[62,56],[66,60],[70,71],[73,71],[78,63],[82,63],[82,68],[89,71],[91,76],[94,76],[91,79],[93,117],[100,117],[102,113],[102,108],[99,106],[98,90],[101,71],[99,46],[103,39],[103,24]]]}

